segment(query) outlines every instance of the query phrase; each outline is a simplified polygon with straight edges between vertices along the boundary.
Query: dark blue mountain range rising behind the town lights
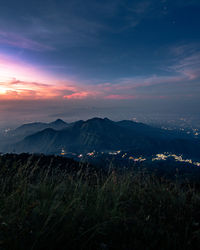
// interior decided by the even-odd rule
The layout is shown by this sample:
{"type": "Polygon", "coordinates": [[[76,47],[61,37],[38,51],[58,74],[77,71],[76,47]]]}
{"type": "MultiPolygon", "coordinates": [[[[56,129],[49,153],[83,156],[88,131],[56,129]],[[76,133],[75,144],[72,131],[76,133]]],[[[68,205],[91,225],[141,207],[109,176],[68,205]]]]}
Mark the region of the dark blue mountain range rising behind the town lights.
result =
{"type": "Polygon", "coordinates": [[[12,132],[25,137],[7,146],[6,152],[59,154],[109,150],[130,150],[135,153],[181,153],[200,158],[200,141],[176,131],[166,131],[133,121],[114,122],[93,118],[67,124],[58,119],[52,123],[23,125],[12,132]]]}

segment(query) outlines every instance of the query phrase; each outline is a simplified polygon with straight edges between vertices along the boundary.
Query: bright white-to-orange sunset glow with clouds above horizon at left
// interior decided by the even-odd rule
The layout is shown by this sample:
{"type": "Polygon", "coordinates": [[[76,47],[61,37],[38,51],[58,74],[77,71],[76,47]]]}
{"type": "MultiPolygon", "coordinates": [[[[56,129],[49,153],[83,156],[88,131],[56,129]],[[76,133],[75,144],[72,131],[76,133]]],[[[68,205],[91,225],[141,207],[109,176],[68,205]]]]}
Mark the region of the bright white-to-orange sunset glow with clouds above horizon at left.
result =
{"type": "MultiPolygon", "coordinates": [[[[0,99],[84,99],[94,96],[92,89],[55,76],[0,53],[0,99]]],[[[92,86],[91,86],[92,88],[92,86]]]]}

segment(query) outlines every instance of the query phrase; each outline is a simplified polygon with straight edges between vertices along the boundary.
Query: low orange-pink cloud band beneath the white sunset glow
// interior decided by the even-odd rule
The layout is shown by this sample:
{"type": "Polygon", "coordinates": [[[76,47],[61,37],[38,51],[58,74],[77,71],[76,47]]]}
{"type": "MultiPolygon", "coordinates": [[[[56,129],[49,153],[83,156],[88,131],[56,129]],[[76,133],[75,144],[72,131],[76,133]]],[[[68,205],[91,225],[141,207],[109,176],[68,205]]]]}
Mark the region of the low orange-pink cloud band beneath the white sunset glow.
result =
{"type": "MultiPolygon", "coordinates": [[[[86,88],[86,87],[85,87],[86,88]]],[[[88,88],[88,87],[87,87],[88,88]]],[[[13,79],[0,82],[1,100],[86,99],[100,96],[101,92],[85,90],[78,84],[61,82],[55,85],[13,79]]]]}

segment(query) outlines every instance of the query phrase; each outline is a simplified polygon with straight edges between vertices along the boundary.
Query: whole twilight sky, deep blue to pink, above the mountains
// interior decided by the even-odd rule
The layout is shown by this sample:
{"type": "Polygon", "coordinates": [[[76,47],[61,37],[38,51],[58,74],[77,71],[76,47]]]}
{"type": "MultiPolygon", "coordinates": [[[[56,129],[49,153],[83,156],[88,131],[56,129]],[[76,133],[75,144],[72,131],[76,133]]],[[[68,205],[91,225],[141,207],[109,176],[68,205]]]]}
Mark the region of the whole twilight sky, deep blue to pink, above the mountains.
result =
{"type": "Polygon", "coordinates": [[[1,0],[0,126],[199,114],[199,0],[1,0]]]}

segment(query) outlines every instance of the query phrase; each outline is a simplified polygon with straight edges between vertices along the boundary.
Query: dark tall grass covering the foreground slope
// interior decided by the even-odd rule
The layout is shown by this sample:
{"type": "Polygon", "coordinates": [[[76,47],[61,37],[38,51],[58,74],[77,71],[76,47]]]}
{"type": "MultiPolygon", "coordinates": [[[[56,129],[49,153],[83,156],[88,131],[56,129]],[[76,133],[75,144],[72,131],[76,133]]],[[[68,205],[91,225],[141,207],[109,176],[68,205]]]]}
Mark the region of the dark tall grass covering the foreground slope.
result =
{"type": "Polygon", "coordinates": [[[40,161],[0,161],[0,249],[199,248],[200,192],[191,185],[40,161]]]}

